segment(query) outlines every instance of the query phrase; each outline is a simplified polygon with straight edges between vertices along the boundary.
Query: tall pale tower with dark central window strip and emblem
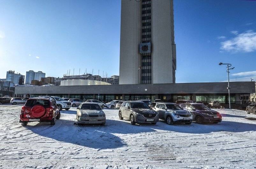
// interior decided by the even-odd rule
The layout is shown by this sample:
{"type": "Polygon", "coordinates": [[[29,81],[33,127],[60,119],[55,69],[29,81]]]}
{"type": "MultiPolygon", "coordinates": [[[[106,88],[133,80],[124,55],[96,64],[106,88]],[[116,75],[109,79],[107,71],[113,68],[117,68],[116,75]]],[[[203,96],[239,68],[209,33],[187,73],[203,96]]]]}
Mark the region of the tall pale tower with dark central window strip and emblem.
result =
{"type": "Polygon", "coordinates": [[[175,83],[173,0],[121,0],[119,84],[175,83]]]}

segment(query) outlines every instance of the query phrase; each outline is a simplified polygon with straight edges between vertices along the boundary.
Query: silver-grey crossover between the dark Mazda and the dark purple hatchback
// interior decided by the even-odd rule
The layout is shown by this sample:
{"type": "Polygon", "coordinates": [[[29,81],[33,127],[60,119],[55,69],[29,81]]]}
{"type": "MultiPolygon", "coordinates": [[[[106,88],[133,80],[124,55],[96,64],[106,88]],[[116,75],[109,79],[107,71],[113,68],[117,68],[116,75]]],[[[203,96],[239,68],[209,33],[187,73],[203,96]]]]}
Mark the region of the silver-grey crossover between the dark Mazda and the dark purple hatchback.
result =
{"type": "Polygon", "coordinates": [[[174,123],[192,123],[192,114],[187,110],[183,110],[178,104],[157,103],[153,109],[157,111],[159,118],[165,120],[169,125],[174,123]]]}

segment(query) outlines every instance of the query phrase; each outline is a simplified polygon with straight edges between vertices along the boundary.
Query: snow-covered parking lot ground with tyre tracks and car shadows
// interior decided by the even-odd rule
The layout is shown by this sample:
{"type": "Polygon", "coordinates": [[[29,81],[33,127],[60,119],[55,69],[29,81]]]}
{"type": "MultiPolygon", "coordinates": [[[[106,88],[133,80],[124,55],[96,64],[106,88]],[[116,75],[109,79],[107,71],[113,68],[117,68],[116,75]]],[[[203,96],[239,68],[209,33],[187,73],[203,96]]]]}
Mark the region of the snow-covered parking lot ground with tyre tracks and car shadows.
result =
{"type": "Polygon", "coordinates": [[[54,126],[19,121],[21,105],[0,105],[0,168],[254,168],[256,121],[216,109],[218,124],[131,125],[104,109],[106,125],[74,125],[76,108],[54,126]]]}

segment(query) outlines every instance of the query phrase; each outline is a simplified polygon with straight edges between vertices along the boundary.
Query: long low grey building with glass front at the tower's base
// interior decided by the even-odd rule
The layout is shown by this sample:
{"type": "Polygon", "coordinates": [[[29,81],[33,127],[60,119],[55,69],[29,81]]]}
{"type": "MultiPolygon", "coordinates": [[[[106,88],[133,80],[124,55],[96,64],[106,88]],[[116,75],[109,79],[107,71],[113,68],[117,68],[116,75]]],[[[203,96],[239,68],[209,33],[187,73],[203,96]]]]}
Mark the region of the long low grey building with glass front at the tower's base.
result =
{"type": "MultiPolygon", "coordinates": [[[[240,102],[240,95],[255,93],[254,82],[230,82],[230,101],[240,102]]],[[[210,102],[228,102],[226,82],[214,83],[168,83],[168,84],[131,84],[131,85],[87,85],[87,86],[17,86],[15,95],[35,97],[51,95],[83,100],[98,99],[104,102],[111,100],[161,99],[163,102],[193,100],[210,102]]]]}

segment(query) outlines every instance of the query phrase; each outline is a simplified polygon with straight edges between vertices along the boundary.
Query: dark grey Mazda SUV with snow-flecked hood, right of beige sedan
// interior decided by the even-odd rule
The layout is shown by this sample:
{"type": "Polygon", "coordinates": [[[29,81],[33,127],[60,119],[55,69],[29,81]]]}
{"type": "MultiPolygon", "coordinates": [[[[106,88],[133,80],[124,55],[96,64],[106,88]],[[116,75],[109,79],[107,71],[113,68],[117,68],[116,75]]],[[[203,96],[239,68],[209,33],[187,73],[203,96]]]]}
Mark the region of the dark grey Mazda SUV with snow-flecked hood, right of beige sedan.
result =
{"type": "Polygon", "coordinates": [[[156,124],[159,120],[158,113],[150,109],[146,103],[140,101],[125,101],[119,108],[119,119],[126,118],[132,125],[136,123],[156,124]]]}

